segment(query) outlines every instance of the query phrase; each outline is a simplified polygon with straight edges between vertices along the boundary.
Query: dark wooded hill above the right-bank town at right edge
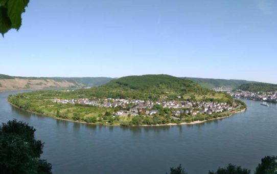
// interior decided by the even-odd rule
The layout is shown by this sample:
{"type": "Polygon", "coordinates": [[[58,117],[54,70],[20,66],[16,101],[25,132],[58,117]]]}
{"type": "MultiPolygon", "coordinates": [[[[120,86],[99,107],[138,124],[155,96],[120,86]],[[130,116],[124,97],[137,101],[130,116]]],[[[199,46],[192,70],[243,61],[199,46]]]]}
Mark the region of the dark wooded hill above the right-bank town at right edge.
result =
{"type": "Polygon", "coordinates": [[[248,83],[242,84],[239,86],[242,91],[250,91],[250,92],[271,92],[277,91],[277,84],[271,83],[248,83]]]}

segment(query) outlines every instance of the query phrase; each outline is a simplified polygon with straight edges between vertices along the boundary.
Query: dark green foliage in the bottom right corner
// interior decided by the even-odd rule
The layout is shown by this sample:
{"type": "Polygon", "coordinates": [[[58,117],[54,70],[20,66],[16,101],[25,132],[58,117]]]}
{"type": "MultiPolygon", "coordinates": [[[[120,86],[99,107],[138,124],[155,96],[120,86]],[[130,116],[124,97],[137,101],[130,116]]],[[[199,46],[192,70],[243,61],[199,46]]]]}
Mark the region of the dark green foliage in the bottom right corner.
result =
{"type": "Polygon", "coordinates": [[[277,173],[277,157],[266,156],[261,161],[261,164],[256,168],[256,174],[277,173]]]}

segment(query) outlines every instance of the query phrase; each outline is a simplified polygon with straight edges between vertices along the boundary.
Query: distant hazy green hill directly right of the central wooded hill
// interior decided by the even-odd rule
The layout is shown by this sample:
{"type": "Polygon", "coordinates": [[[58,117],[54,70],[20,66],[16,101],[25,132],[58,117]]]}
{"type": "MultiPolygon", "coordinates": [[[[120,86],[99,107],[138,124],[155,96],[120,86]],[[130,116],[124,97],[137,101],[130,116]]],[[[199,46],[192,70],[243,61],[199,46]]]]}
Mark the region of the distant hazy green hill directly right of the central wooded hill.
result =
{"type": "Polygon", "coordinates": [[[233,88],[236,89],[242,84],[247,84],[247,83],[257,83],[256,81],[247,81],[247,80],[226,80],[226,79],[213,79],[213,78],[193,78],[193,77],[183,77],[183,79],[188,79],[192,80],[204,88],[216,88],[216,87],[221,87],[221,86],[226,86],[228,88],[233,88]]]}

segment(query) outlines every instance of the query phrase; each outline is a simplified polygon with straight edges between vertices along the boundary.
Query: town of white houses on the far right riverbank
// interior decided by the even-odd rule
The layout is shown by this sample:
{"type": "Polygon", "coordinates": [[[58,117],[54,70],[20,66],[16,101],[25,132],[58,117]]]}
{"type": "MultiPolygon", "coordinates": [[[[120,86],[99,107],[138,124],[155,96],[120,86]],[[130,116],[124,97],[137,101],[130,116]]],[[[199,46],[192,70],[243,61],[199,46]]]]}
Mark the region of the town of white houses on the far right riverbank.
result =
{"type": "Polygon", "coordinates": [[[236,91],[230,91],[228,92],[232,97],[235,98],[245,98],[245,99],[250,99],[250,100],[261,100],[261,101],[268,101],[268,102],[277,102],[277,91],[275,92],[249,92],[249,91],[241,91],[241,90],[236,90],[236,91]]]}

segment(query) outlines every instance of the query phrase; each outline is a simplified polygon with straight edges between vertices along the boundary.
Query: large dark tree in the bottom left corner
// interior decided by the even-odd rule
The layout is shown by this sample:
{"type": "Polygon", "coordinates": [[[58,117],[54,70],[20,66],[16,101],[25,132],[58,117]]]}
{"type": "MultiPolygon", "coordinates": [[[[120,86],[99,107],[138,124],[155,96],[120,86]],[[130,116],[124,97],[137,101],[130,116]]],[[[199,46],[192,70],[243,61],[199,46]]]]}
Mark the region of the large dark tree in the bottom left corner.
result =
{"type": "Polygon", "coordinates": [[[0,173],[52,173],[52,165],[41,160],[43,143],[35,128],[16,119],[0,126],[0,173]]]}

